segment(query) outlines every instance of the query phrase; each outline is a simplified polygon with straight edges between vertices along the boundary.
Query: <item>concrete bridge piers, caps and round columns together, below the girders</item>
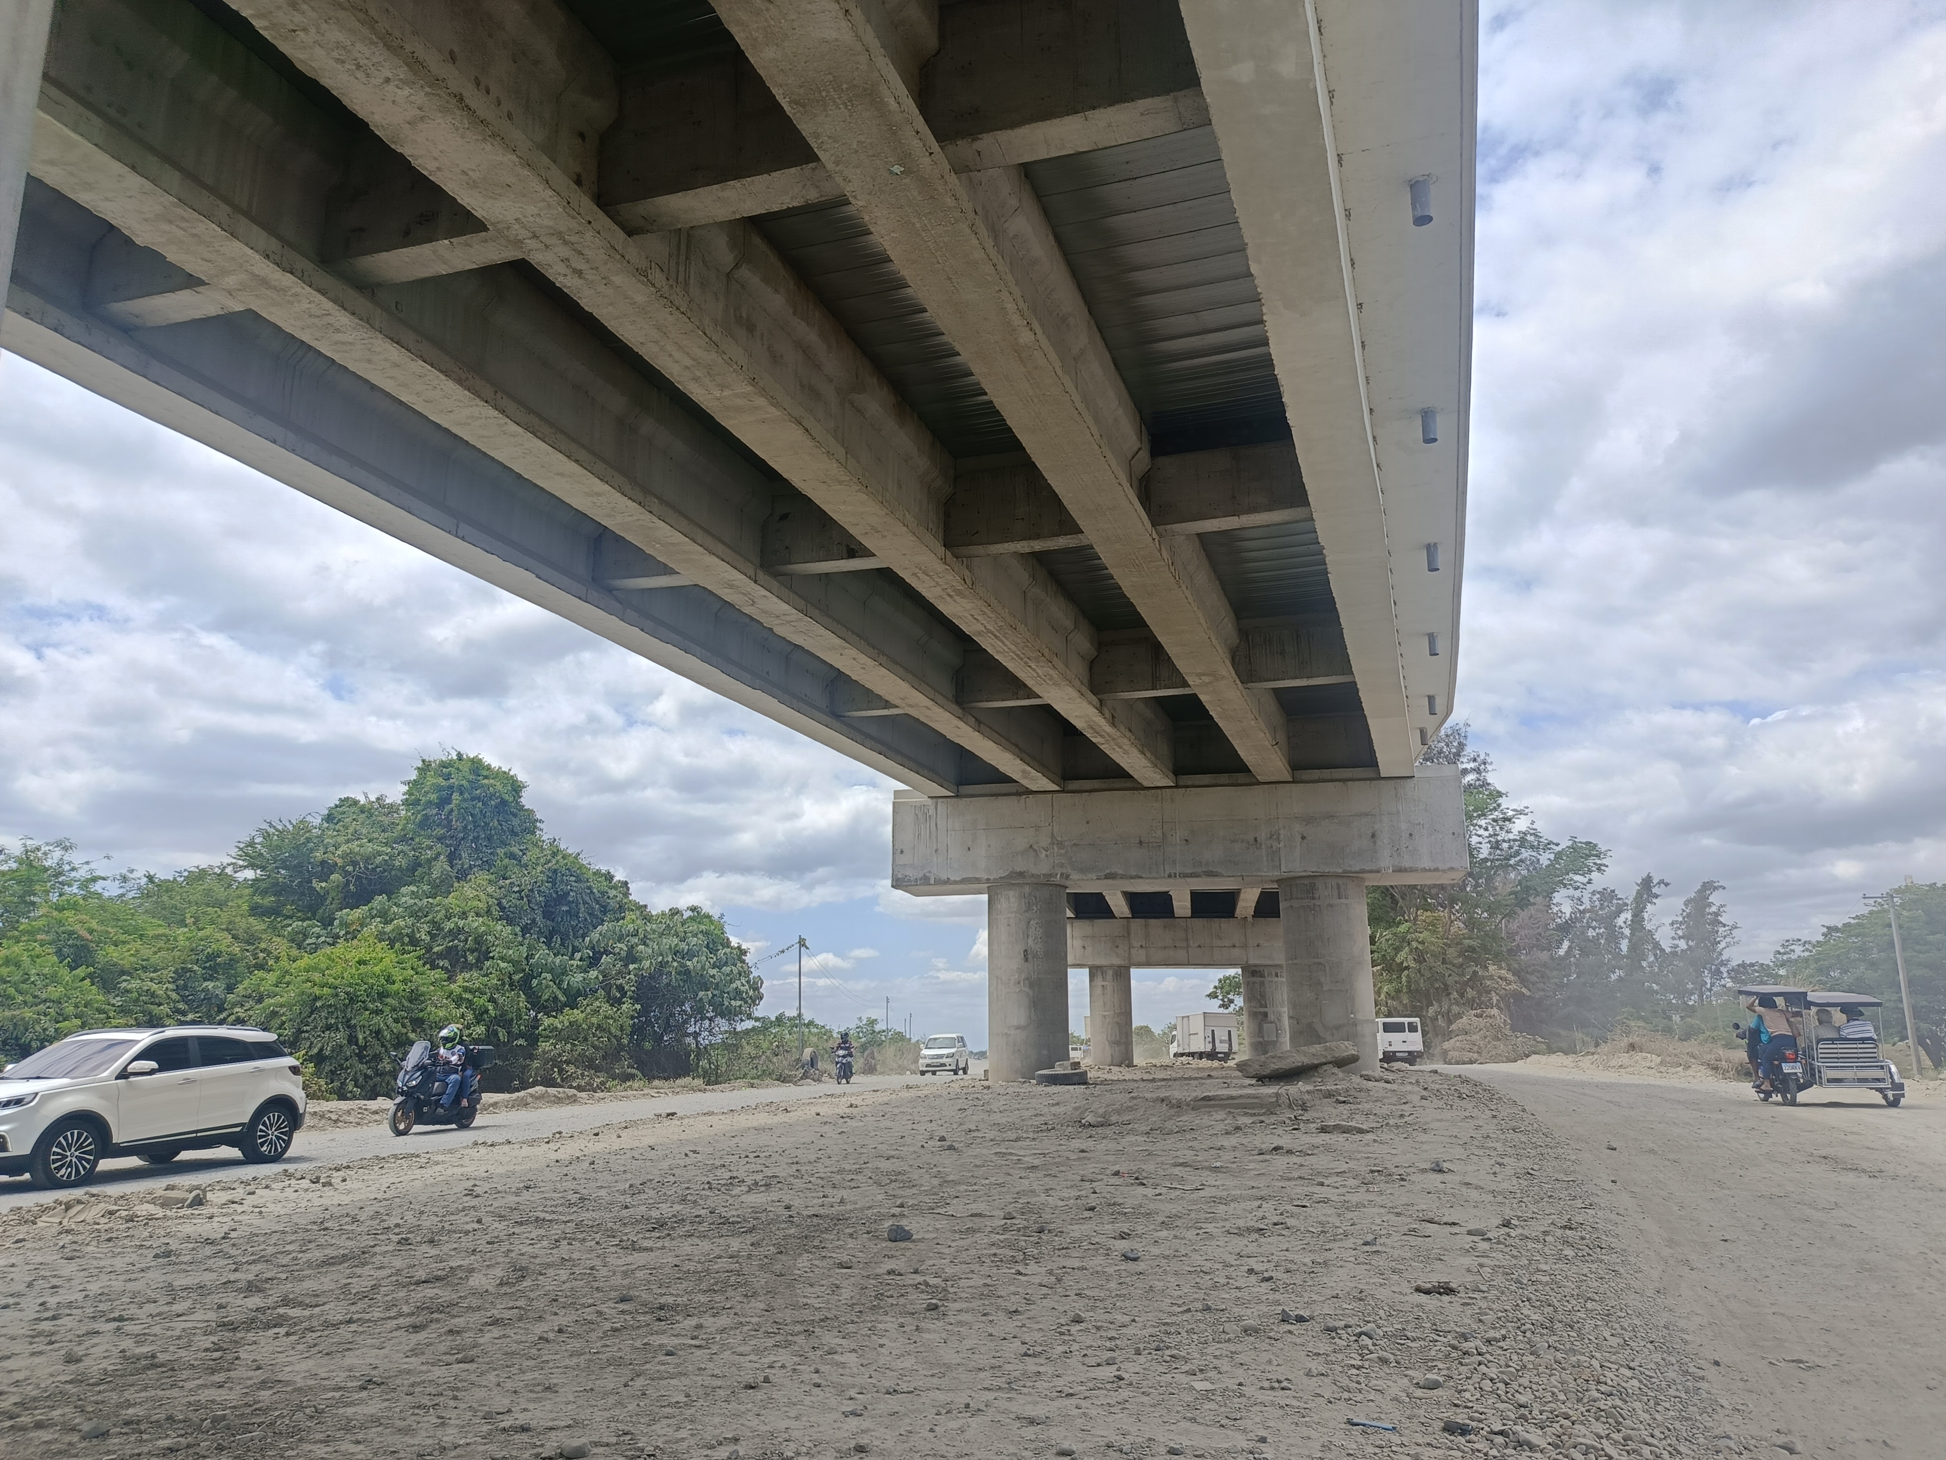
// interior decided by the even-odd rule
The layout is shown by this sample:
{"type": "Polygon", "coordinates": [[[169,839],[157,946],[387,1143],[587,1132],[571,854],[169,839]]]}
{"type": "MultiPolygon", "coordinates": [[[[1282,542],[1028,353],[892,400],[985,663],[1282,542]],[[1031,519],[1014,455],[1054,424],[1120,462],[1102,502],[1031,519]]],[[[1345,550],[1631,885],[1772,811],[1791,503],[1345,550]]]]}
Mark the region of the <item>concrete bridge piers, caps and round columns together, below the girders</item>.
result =
{"type": "Polygon", "coordinates": [[[1129,967],[1240,967],[1253,1045],[1349,1040],[1360,1067],[1376,1069],[1364,888],[1458,882],[1465,870],[1465,806],[1450,765],[1399,779],[1249,786],[955,798],[901,790],[891,816],[893,888],[989,897],[996,1080],[1031,1078],[1037,1061],[1066,1047],[1057,950],[1068,967],[1090,969],[1090,1003],[1101,1003],[1092,1063],[1133,1059],[1129,967]],[[1236,894],[1234,915],[1191,911],[1193,894],[1224,892],[1236,894]],[[1280,911],[1259,917],[1271,892],[1280,911]],[[1064,894],[1103,894],[1096,905],[1113,915],[1074,917],[1064,894]],[[1129,915],[1129,894],[1170,894],[1164,913],[1175,913],[1129,915]]]}

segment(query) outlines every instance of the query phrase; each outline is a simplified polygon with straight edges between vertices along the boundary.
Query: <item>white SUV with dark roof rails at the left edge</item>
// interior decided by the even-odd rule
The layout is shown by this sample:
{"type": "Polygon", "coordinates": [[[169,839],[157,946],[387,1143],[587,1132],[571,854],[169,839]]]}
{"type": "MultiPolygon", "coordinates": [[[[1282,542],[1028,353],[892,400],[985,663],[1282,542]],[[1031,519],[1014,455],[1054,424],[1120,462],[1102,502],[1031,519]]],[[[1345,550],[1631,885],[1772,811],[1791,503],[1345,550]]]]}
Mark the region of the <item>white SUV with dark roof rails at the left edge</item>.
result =
{"type": "Polygon", "coordinates": [[[82,1186],[109,1156],[282,1160],[302,1125],[298,1061],[235,1024],[88,1030],[0,1071],[0,1176],[35,1186],[82,1186]]]}

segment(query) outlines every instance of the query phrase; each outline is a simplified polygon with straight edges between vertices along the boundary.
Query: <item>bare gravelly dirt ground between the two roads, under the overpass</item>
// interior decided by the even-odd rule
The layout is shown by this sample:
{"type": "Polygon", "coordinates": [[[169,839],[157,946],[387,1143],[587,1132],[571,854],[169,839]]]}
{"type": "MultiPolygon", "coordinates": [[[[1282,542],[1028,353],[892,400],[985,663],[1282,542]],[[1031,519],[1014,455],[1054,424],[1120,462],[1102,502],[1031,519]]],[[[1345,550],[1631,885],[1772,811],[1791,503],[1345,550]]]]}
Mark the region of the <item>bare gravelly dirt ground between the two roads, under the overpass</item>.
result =
{"type": "Polygon", "coordinates": [[[0,1450],[1711,1444],[1607,1193],[1458,1075],[961,1080],[198,1195],[0,1219],[0,1450]]]}

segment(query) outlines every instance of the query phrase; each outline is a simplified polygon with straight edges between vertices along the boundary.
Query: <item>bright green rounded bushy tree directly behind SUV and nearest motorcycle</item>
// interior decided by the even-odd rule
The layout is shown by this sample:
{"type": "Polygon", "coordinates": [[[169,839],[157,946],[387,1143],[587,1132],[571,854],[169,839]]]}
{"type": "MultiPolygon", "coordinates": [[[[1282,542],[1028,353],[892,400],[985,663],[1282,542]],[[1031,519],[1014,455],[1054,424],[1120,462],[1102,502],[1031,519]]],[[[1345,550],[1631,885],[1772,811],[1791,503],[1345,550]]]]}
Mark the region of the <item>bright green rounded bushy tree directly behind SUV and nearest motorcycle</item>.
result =
{"type": "Polygon", "coordinates": [[[391,1094],[393,1055],[469,1012],[442,973],[374,936],[255,973],[232,1001],[232,1018],[272,1030],[329,1100],[391,1094]]]}

